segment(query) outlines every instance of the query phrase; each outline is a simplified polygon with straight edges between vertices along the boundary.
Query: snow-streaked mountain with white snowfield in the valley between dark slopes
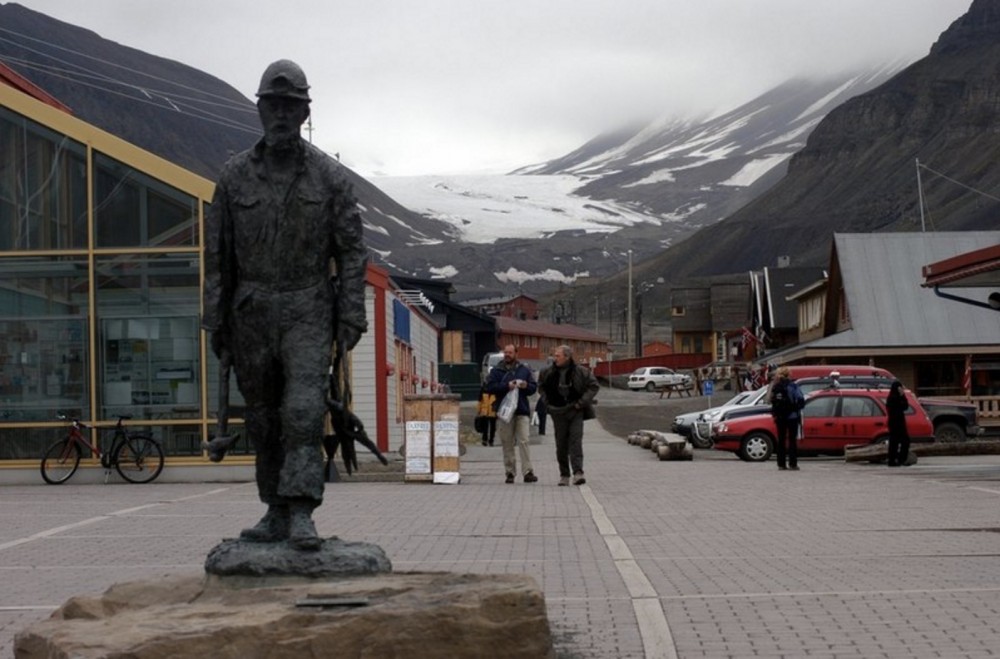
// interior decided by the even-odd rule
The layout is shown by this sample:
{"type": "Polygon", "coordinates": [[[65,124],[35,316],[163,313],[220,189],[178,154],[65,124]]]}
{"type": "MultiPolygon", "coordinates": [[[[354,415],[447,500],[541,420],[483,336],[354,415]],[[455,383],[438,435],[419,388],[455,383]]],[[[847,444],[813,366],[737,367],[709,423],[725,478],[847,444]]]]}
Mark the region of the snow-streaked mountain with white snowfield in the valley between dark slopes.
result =
{"type": "Polygon", "coordinates": [[[636,261],[655,256],[763,193],[830,110],[902,68],[792,80],[729,112],[619,129],[506,176],[372,179],[403,206],[453,225],[461,241],[380,255],[477,293],[621,272],[628,250],[636,261]]]}

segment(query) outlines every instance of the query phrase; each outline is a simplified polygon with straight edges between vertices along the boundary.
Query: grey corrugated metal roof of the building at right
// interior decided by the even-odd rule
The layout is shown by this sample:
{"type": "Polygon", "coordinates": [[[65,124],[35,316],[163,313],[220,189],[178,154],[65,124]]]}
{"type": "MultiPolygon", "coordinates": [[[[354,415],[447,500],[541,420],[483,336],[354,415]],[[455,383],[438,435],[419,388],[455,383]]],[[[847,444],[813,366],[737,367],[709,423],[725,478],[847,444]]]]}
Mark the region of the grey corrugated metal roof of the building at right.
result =
{"type": "MultiPolygon", "coordinates": [[[[1000,343],[1000,314],[923,288],[927,263],[1000,243],[1000,231],[838,233],[834,248],[852,331],[810,347],[955,346],[1000,343]]],[[[991,289],[967,289],[985,300],[991,289]]]]}

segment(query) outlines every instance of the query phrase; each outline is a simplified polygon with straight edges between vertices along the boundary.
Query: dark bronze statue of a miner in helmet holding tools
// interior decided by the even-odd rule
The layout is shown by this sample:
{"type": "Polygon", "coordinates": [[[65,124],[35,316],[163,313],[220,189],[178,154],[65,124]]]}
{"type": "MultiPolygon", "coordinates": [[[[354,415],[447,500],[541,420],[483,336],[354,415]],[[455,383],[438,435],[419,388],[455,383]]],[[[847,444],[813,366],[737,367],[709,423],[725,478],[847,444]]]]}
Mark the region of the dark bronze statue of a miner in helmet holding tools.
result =
{"type": "MultiPolygon", "coordinates": [[[[354,440],[374,449],[338,377],[367,330],[367,252],[343,169],[300,135],[309,116],[305,73],[274,62],[257,97],[264,137],[226,163],[205,221],[203,327],[223,377],[230,364],[236,373],[267,504],[240,540],[317,550],[312,512],[323,501],[326,412],[345,460],[354,440]]],[[[210,443],[213,460],[228,439],[210,443]]]]}

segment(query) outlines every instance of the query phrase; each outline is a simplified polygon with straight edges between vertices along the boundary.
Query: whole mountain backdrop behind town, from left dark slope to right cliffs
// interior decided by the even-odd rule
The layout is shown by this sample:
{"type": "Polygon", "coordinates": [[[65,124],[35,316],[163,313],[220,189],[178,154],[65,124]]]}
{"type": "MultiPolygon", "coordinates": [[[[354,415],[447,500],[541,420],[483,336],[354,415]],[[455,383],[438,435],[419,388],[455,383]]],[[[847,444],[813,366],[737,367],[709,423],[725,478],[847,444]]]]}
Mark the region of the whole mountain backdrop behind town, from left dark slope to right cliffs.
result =
{"type": "MultiPolygon", "coordinates": [[[[572,288],[582,308],[623,294],[629,250],[652,297],[659,282],[781,254],[821,263],[833,230],[916,229],[917,158],[998,188],[998,5],[975,0],[915,63],[798,77],[713,116],[608,126],[507,176],[352,174],[373,257],[466,295],[572,288]]],[[[257,138],[252,102],[202,71],[12,3],[0,25],[0,61],[82,119],[210,179],[257,138]]],[[[926,186],[933,227],[995,223],[989,199],[929,172],[926,186]]]]}

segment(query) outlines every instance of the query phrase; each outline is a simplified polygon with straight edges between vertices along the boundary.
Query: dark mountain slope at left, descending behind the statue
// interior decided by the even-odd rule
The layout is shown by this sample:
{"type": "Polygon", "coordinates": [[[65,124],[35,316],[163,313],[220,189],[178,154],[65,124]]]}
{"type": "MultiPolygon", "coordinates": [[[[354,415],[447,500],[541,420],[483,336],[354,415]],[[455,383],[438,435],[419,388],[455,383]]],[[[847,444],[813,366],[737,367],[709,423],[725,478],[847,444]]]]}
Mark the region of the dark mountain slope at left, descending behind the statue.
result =
{"type": "MultiPolygon", "coordinates": [[[[0,61],[76,117],[211,181],[262,134],[253,101],[208,73],[16,3],[0,4],[0,25],[0,61]]],[[[451,225],[410,211],[344,169],[374,251],[394,249],[392,234],[404,243],[453,238],[451,225]]]]}

